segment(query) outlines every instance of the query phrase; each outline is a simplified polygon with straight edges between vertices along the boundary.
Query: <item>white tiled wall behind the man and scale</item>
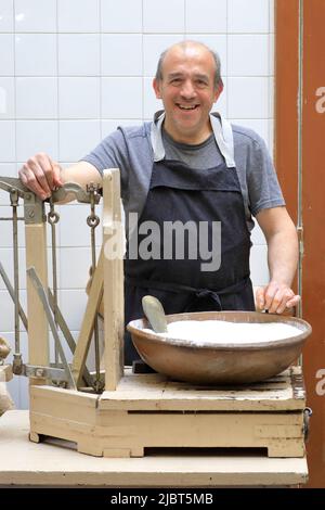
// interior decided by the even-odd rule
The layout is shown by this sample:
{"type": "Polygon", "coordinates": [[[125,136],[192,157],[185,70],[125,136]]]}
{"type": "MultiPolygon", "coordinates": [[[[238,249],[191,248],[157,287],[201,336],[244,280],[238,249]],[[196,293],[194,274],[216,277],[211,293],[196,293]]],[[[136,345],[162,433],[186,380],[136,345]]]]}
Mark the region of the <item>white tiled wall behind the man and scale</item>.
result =
{"type": "MultiPolygon", "coordinates": [[[[15,176],[38,151],[69,164],[117,125],[150,119],[161,106],[152,91],[158,55],[184,38],[204,41],[219,52],[225,84],[219,110],[258,131],[272,151],[273,3],[0,0],[0,175],[15,176]]],[[[5,204],[8,194],[0,191],[0,216],[10,213],[5,204]]],[[[90,265],[88,211],[72,204],[60,212],[61,307],[77,335],[90,265]]],[[[259,229],[252,238],[253,283],[263,284],[265,241],[259,229]]],[[[0,222],[0,260],[12,278],[11,243],[9,224],[0,222]]],[[[24,248],[20,259],[23,268],[24,248]]],[[[25,303],[23,273],[21,288],[25,303]]],[[[14,344],[13,309],[2,281],[0,334],[14,344]]],[[[27,361],[24,333],[22,350],[27,361]]],[[[27,407],[26,381],[15,378],[9,386],[16,405],[27,407]]]]}

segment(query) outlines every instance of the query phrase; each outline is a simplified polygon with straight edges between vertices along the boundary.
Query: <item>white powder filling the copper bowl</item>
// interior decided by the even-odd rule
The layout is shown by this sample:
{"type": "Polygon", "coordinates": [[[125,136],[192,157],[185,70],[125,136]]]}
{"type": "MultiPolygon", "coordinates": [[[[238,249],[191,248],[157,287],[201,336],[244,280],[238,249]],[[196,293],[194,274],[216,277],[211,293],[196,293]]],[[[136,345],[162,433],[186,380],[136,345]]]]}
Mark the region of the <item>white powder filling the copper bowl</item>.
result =
{"type": "MultiPolygon", "coordinates": [[[[229,322],[224,320],[181,320],[170,322],[162,339],[184,340],[195,345],[271,342],[297,336],[302,331],[284,322],[229,322]]],[[[153,330],[144,329],[147,333],[153,330]]]]}

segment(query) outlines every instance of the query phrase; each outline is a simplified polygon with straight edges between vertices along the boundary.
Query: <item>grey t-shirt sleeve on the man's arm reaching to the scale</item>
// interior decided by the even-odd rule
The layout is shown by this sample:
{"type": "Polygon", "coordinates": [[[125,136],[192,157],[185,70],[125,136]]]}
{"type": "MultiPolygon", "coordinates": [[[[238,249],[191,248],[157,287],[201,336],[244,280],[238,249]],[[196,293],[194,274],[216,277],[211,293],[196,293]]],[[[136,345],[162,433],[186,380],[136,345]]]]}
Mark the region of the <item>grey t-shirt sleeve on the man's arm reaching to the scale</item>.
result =
{"type": "Polygon", "coordinates": [[[106,168],[119,168],[122,196],[128,192],[128,160],[127,143],[120,129],[104,138],[93,151],[81,158],[93,165],[101,174],[106,168]]]}

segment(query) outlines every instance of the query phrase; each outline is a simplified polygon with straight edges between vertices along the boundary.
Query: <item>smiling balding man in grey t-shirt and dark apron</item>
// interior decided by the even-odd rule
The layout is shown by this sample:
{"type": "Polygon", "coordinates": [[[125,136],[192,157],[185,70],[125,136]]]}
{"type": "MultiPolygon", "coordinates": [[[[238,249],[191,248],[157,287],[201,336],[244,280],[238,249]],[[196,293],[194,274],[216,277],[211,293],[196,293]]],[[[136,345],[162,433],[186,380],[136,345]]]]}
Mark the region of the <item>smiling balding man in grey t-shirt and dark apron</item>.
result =
{"type": "MultiPolygon", "coordinates": [[[[253,131],[231,127],[210,114],[223,89],[218,55],[195,41],[173,44],[162,53],[153,86],[165,107],[154,123],[118,129],[67,169],[37,154],[21,169],[22,181],[46,199],[64,182],[100,182],[104,168],[120,168],[127,225],[130,213],[139,218],[125,263],[127,322],[143,315],[145,294],[158,297],[167,314],[255,309],[249,279],[251,215],[266,238],[270,268],[270,283],[258,291],[257,306],[277,314],[295,306],[300,298],[290,289],[297,234],[265,145],[253,131]],[[213,226],[221,225],[218,270],[203,270],[200,251],[188,256],[190,234],[184,259],[178,259],[164,239],[158,252],[152,250],[156,257],[130,256],[134,239],[138,247],[144,241],[142,227],[157,225],[164,231],[174,221],[190,221],[196,233],[203,222],[207,225],[205,241],[208,238],[211,256],[213,226]]],[[[152,243],[156,241],[153,238],[152,243]]],[[[135,356],[127,343],[127,364],[135,356]]]]}

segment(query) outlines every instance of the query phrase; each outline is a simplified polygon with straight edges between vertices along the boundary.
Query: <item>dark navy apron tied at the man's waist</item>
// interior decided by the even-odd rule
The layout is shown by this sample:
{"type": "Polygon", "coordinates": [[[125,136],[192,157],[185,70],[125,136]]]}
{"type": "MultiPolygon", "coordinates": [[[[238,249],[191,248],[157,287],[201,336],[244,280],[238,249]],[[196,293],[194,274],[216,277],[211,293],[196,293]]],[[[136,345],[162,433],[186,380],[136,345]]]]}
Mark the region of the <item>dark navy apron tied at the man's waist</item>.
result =
{"type": "MultiPolygon", "coordinates": [[[[178,161],[154,163],[150,191],[139,227],[155,221],[164,231],[165,221],[208,222],[209,251],[212,247],[212,221],[221,221],[221,265],[218,270],[202,270],[209,260],[191,259],[188,240],[184,259],[164,259],[164,237],[157,239],[160,259],[129,258],[125,260],[126,323],[143,317],[142,297],[157,297],[166,314],[209,310],[253,310],[252,285],[249,278],[250,234],[244,200],[235,168],[222,163],[213,168],[195,169],[178,161]]],[[[147,238],[139,234],[138,246],[147,238]]],[[[199,237],[198,237],[199,238],[199,237]]],[[[153,250],[154,251],[154,250],[153,250]]],[[[125,362],[139,359],[129,333],[126,334],[125,362]]]]}

